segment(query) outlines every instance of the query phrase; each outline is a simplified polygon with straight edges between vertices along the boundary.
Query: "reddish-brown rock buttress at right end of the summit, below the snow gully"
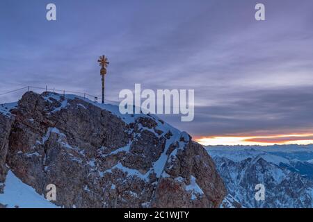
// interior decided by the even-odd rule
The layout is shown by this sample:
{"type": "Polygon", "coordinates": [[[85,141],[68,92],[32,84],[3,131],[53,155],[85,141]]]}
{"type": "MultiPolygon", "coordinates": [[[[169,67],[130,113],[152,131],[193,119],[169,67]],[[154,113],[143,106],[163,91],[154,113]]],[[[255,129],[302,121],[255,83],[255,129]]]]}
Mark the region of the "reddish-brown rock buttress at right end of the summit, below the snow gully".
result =
{"type": "Polygon", "coordinates": [[[186,147],[179,146],[170,154],[153,206],[218,207],[225,193],[220,193],[224,185],[214,171],[214,162],[200,144],[189,141],[186,147]]]}

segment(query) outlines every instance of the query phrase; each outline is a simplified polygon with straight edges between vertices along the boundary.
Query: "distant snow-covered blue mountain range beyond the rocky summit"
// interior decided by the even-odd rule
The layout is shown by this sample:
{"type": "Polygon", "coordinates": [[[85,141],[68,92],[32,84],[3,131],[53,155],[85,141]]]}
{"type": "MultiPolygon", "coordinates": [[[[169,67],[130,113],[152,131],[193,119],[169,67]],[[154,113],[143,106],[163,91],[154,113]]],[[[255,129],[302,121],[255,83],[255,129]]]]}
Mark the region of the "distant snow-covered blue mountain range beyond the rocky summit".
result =
{"type": "Polygon", "coordinates": [[[207,146],[227,187],[221,207],[313,207],[313,145],[207,146]],[[265,200],[255,200],[255,185],[265,200]]]}

